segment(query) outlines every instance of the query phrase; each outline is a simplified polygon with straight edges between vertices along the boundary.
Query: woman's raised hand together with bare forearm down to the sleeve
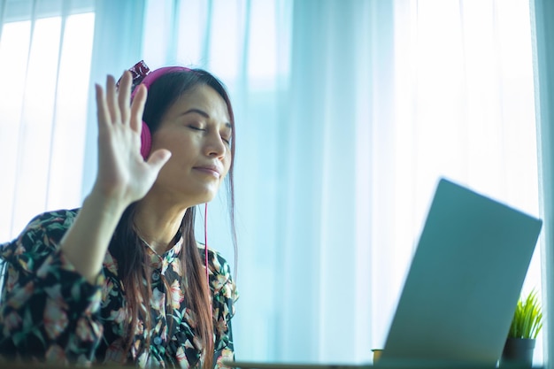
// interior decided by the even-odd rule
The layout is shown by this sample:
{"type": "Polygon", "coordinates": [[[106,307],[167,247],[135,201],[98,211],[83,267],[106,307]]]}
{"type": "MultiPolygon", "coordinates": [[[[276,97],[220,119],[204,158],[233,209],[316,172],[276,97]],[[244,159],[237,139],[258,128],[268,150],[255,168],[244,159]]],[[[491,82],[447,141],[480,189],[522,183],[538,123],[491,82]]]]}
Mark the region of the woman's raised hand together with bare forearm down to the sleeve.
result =
{"type": "Polygon", "coordinates": [[[65,258],[90,282],[96,281],[102,270],[121,214],[129,204],[146,195],[171,157],[168,150],[153,152],[148,161],[141,156],[146,88],[138,88],[133,103],[129,104],[131,73],[124,73],[119,91],[113,77],[108,76],[105,96],[104,90],[96,85],[98,174],[92,192],[60,242],[65,258]]]}

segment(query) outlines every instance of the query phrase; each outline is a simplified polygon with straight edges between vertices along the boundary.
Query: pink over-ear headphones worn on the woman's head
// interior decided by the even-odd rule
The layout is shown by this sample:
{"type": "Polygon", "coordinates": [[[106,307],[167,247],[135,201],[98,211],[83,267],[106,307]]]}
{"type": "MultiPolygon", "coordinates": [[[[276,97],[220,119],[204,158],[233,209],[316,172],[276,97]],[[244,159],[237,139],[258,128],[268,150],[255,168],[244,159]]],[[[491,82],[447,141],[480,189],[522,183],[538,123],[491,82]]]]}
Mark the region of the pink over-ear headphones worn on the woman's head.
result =
{"type": "MultiPolygon", "coordinates": [[[[131,101],[135,97],[136,88],[139,85],[144,85],[147,89],[150,88],[154,81],[166,73],[173,72],[182,72],[190,71],[189,68],[184,66],[164,66],[162,68],[156,69],[155,71],[150,72],[148,65],[144,63],[143,60],[136,63],[129,72],[133,75],[133,92],[131,93],[131,101]]],[[[119,82],[118,82],[119,84],[119,82]]],[[[146,160],[150,154],[150,149],[152,147],[152,135],[150,134],[150,128],[142,121],[142,133],[141,133],[141,155],[142,158],[146,160]]]]}

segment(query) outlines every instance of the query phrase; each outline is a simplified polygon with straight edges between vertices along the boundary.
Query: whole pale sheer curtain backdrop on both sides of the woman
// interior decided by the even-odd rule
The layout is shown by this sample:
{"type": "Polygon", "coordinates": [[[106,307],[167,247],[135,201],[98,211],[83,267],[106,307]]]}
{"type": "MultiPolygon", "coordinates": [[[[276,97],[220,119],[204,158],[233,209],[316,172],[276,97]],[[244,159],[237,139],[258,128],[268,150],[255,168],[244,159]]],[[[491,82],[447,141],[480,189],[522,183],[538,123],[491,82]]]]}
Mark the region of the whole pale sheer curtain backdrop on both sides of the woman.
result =
{"type": "Polygon", "coordinates": [[[0,5],[0,242],[87,196],[106,74],[143,59],[227,85],[236,265],[223,194],[207,222],[237,273],[237,359],[370,361],[440,177],[539,216],[529,0],[0,5]]]}

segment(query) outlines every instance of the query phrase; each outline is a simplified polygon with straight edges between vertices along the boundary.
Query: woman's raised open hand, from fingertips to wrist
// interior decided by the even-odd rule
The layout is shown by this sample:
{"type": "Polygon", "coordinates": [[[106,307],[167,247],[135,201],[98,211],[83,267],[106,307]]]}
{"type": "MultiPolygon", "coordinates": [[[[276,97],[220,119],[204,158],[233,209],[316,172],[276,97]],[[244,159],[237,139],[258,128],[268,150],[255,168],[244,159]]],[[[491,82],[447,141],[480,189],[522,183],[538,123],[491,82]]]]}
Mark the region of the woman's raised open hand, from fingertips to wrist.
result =
{"type": "Polygon", "coordinates": [[[148,161],[142,158],[142,111],[147,90],[139,85],[129,104],[131,82],[131,73],[126,71],[117,89],[113,76],[108,76],[105,96],[103,88],[96,84],[98,173],[93,193],[125,206],[146,195],[171,157],[168,150],[157,150],[148,161]]]}

